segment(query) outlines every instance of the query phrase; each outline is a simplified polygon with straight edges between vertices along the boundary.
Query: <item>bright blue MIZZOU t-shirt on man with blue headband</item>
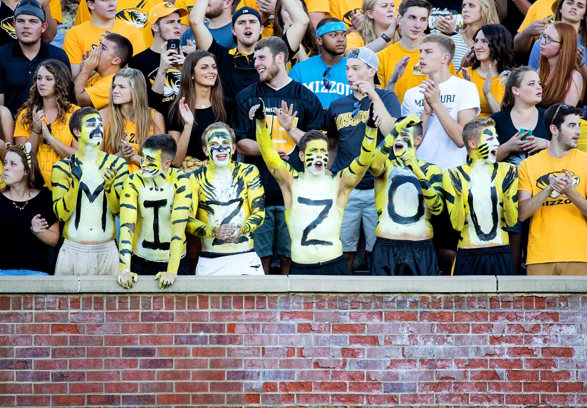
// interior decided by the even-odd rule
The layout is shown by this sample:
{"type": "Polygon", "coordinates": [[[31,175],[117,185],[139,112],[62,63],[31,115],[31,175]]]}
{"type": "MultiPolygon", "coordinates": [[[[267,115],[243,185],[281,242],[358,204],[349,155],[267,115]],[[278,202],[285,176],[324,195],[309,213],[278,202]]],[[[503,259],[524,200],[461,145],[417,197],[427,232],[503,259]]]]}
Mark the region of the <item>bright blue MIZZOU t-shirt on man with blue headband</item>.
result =
{"type": "Polygon", "coordinates": [[[338,64],[334,64],[326,76],[326,79],[332,84],[330,89],[326,89],[323,81],[323,74],[327,68],[328,65],[322,61],[321,56],[316,55],[298,62],[289,71],[289,77],[315,93],[325,109],[330,107],[333,100],[353,92],[346,79],[346,57],[342,57],[338,64]]]}

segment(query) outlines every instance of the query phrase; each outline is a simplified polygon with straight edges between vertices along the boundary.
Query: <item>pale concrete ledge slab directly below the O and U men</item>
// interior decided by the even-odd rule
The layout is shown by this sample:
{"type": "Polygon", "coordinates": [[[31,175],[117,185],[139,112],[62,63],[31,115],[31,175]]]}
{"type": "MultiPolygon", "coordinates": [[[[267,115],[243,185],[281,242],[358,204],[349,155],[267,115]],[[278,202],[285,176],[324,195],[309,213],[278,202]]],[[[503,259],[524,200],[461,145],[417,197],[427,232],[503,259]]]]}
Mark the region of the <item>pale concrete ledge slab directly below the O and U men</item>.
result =
{"type": "Polygon", "coordinates": [[[495,276],[290,276],[293,293],[496,293],[495,276]]]}

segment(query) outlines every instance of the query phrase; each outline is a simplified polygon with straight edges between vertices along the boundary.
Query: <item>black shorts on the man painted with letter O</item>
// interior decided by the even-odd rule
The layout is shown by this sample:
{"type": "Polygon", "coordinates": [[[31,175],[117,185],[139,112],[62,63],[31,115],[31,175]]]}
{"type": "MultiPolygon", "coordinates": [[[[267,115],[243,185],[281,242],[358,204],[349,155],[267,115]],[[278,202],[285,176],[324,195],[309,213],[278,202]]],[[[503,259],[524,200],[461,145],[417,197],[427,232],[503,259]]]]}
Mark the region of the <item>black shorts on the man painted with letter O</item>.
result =
{"type": "Polygon", "coordinates": [[[432,240],[378,237],[373,246],[370,273],[372,276],[437,276],[438,261],[432,240]]]}

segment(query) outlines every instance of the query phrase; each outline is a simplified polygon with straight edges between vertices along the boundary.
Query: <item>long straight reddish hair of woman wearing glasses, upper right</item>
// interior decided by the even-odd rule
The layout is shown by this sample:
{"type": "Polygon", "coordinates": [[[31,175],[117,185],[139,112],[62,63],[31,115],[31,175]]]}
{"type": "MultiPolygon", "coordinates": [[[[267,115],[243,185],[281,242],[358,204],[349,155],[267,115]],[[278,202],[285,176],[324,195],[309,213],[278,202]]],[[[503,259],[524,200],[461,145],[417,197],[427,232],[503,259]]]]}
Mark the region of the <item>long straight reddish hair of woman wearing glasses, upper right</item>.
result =
{"type": "Polygon", "coordinates": [[[554,72],[551,76],[550,65],[546,57],[540,56],[538,75],[542,81],[542,102],[540,107],[549,106],[565,100],[565,95],[571,87],[573,71],[579,71],[577,64],[577,33],[575,28],[561,21],[552,23],[561,37],[561,50],[556,59],[554,72]]]}

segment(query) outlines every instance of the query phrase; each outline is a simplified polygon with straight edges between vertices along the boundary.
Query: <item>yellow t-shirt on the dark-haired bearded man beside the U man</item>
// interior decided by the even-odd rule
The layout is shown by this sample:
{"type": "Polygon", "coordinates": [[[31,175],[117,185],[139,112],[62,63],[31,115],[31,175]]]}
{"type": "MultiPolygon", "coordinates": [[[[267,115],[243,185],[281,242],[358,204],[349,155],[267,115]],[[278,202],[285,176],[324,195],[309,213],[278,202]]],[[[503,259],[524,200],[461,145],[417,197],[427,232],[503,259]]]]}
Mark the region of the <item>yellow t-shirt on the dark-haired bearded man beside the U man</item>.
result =
{"type": "MultiPolygon", "coordinates": [[[[578,149],[553,158],[544,149],[521,162],[518,191],[537,195],[548,185],[549,175],[564,171],[573,176],[575,190],[587,195],[587,153],[578,149]]],[[[530,219],[526,264],[587,262],[587,219],[564,195],[552,192],[530,219]]]]}

